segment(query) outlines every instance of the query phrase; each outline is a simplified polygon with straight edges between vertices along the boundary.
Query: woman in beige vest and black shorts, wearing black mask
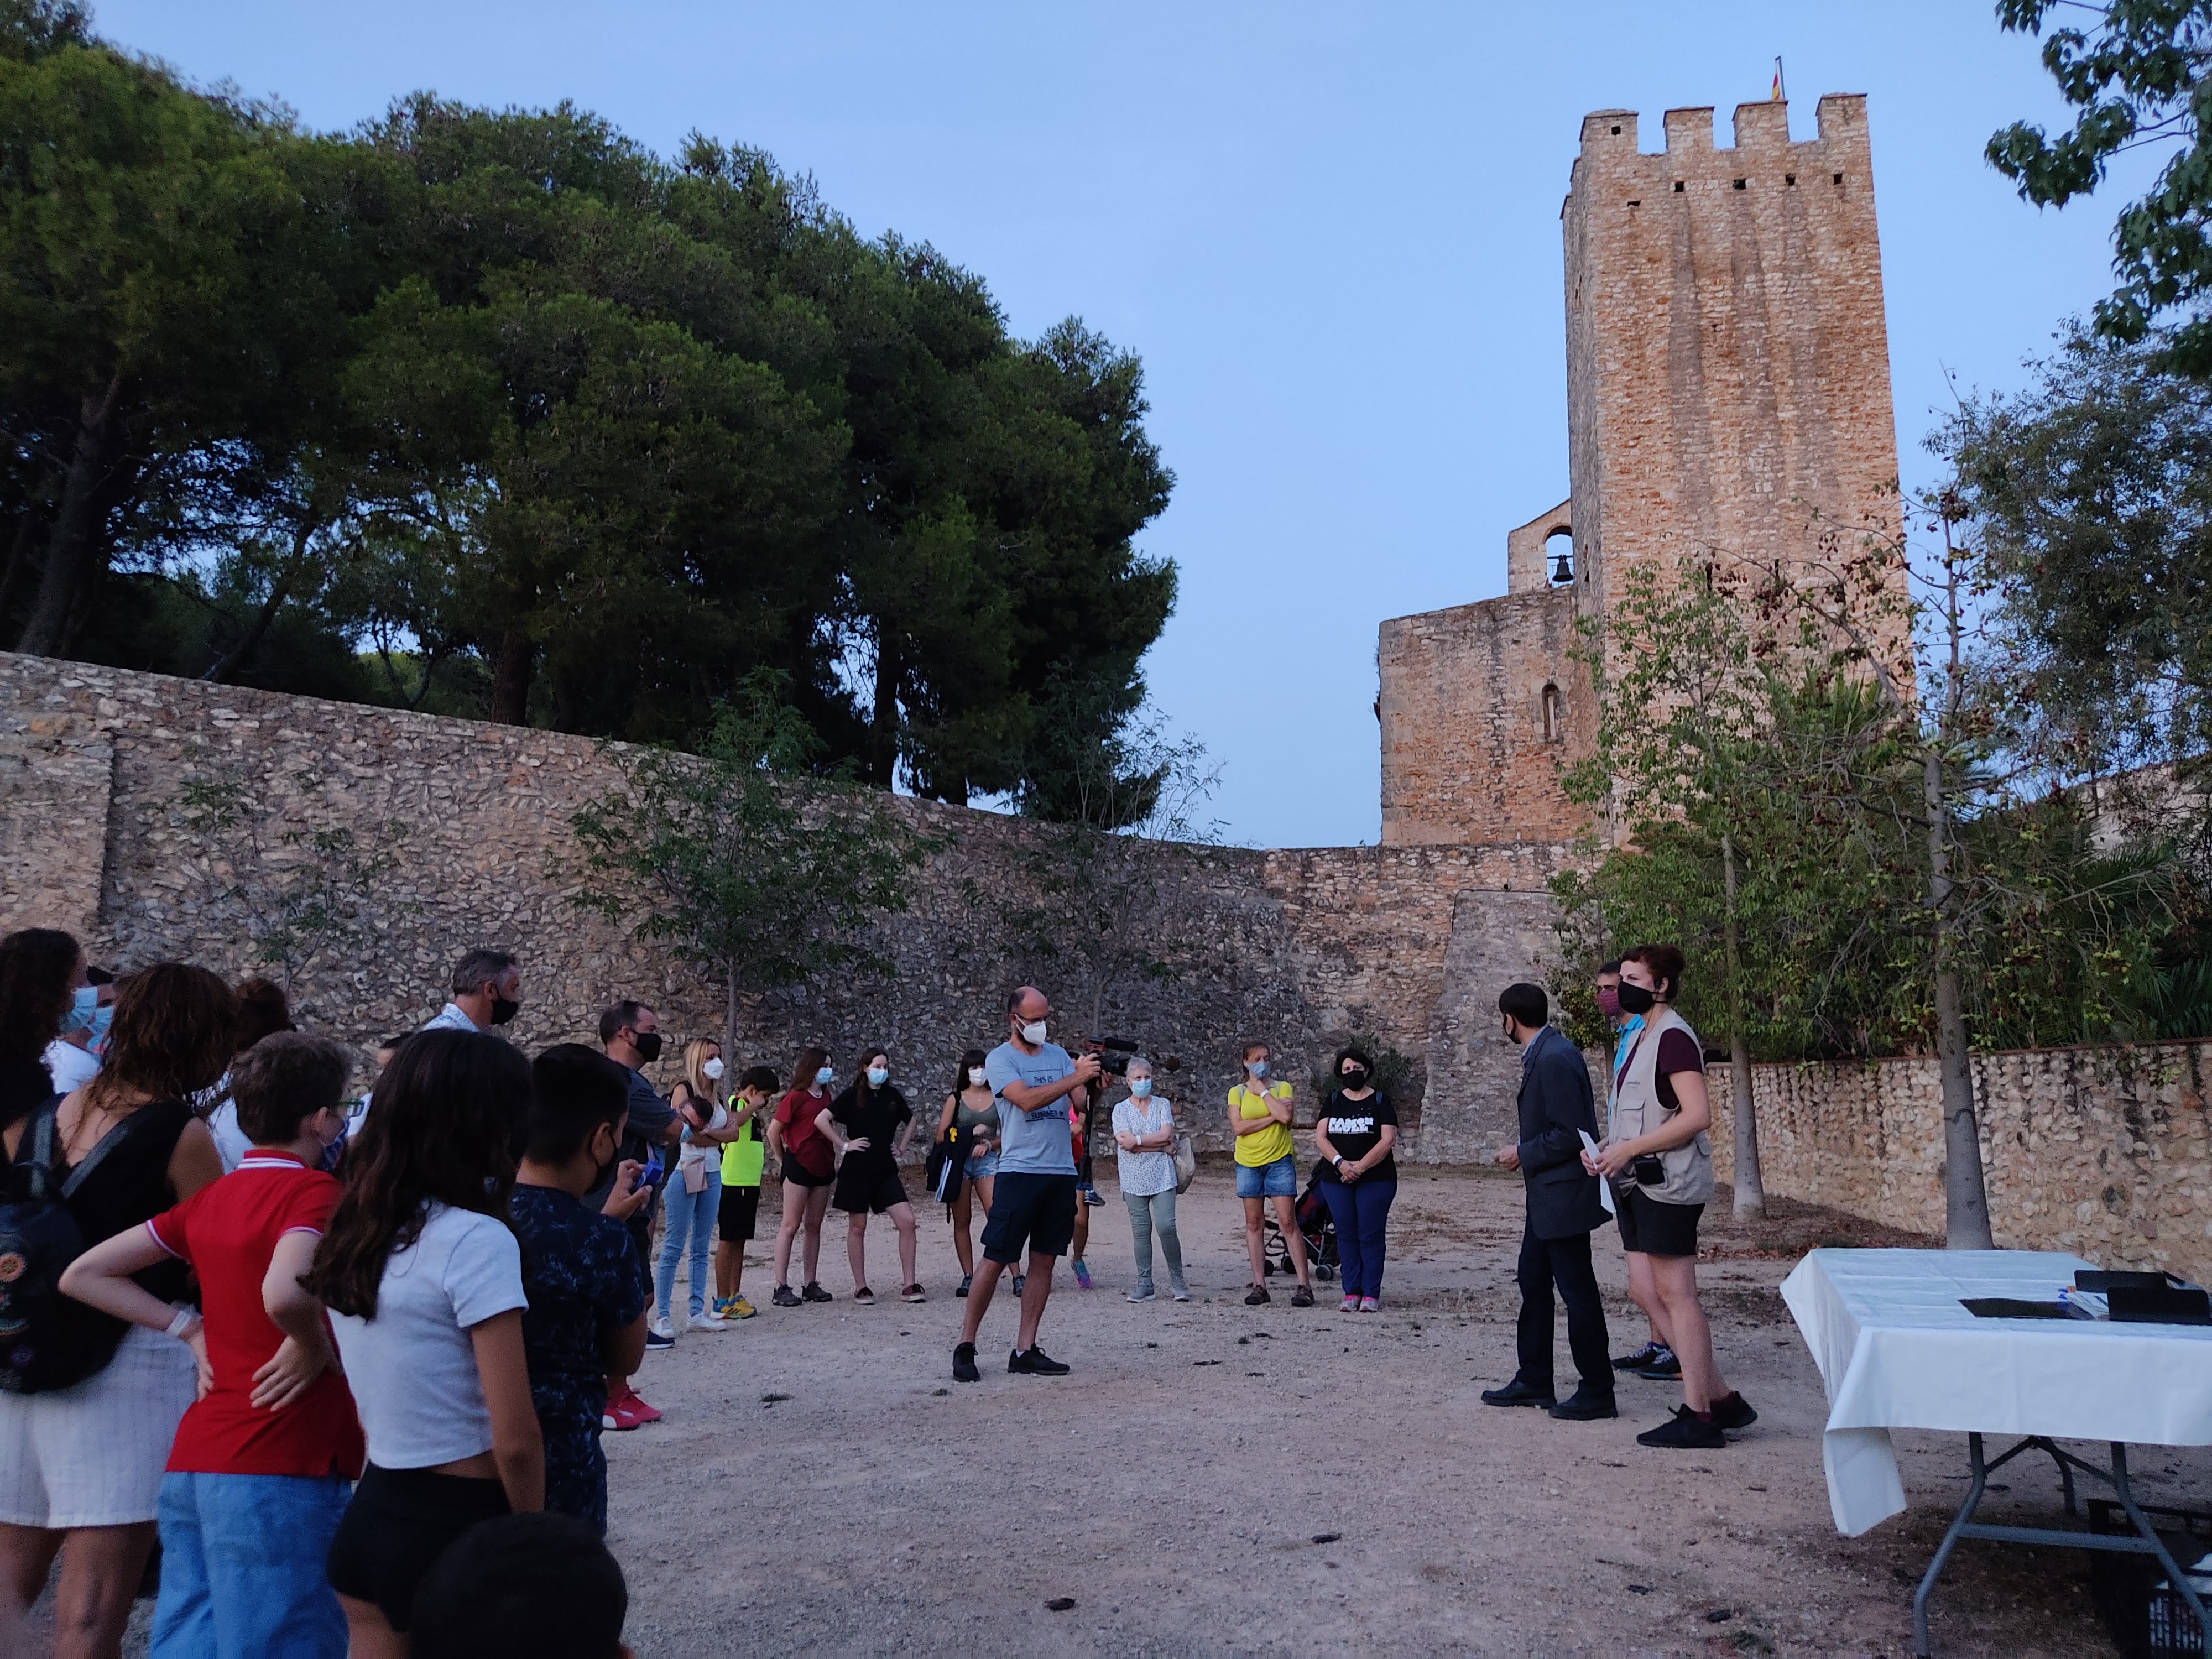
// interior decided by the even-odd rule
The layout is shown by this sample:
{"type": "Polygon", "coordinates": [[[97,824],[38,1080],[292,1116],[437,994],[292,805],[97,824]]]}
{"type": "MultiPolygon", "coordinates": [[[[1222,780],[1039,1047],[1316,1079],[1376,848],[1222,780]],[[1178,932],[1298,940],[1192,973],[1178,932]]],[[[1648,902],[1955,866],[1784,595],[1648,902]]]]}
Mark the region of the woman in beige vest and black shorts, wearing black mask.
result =
{"type": "Polygon", "coordinates": [[[1613,1073],[1613,1124],[1593,1175],[1613,1181],[1628,1290],[1681,1360],[1683,1402],[1668,1422],[1637,1436],[1646,1447],[1725,1447],[1723,1429],[1745,1429],[1759,1413],[1721,1380],[1712,1327],[1697,1301],[1697,1221],[1712,1199],[1712,1148],[1705,1126],[1703,1046],[1674,1013],[1683,958],[1672,945],[1639,945],[1621,956],[1619,998],[1644,1015],[1613,1073]]]}

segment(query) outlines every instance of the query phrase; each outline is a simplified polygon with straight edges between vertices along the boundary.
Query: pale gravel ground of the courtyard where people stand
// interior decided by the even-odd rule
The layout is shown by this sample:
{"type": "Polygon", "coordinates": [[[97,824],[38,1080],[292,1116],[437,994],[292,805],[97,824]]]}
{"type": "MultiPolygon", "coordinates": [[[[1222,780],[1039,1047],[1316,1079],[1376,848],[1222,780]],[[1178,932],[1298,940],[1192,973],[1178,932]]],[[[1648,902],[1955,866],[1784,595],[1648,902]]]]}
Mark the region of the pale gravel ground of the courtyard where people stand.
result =
{"type": "MultiPolygon", "coordinates": [[[[1325,1285],[1294,1310],[1285,1281],[1270,1307],[1243,1305],[1225,1166],[1181,1201],[1197,1301],[1130,1305],[1128,1219],[1106,1197],[1097,1287],[1062,1270],[1044,1318],[1044,1347],[1075,1367],[1055,1380],[1004,1374],[1004,1287],[984,1380],[951,1380],[962,1303],[942,1210],[922,1214],[927,1305],[854,1305],[832,1217],[821,1276],[836,1301],[768,1307],[763,1237],[748,1267],[761,1316],[648,1356],[639,1387],[666,1420],[606,1438],[639,1657],[1909,1650],[1911,1586],[1964,1489],[1964,1440],[1900,1433],[1911,1509],[1836,1537],[1827,1405],[1774,1287],[1816,1243],[1924,1241],[1790,1203],[1756,1232],[1710,1228],[1721,1365],[1761,1418],[1725,1451],[1661,1453],[1635,1444],[1679,1398],[1661,1383],[1626,1378],[1617,1422],[1480,1402],[1513,1374],[1511,1177],[1409,1172],[1369,1316],[1338,1314],[1325,1285]]],[[[894,1243],[872,1225],[878,1292],[896,1287],[894,1243]]],[[[1641,1318],[1606,1234],[1597,1259],[1626,1352],[1641,1318]]],[[[2137,1455],[2152,1502],[2212,1500],[2212,1453],[2137,1455]]],[[[2051,1471],[2004,1473],[1989,1511],[2055,1524],[2051,1471]]],[[[1964,1544],[1936,1595],[1936,1650],[2112,1652],[2084,1559],[1964,1544]]]]}

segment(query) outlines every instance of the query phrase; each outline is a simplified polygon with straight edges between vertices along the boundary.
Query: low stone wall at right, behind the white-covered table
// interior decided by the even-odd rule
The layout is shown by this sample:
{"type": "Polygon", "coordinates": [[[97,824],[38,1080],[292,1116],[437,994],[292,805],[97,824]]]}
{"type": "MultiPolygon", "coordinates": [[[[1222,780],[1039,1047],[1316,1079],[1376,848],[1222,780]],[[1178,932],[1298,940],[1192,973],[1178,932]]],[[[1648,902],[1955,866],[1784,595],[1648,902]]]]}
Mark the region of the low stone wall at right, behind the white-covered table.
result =
{"type": "MultiPolygon", "coordinates": [[[[1732,1091],[1714,1093],[1712,1164],[1732,1175],[1732,1091]]],[[[1989,1219],[2004,1250],[2212,1281],[2212,1044],[2015,1048],[1973,1062],[1989,1219]]],[[[1767,1192],[1942,1234],[1942,1084],[1933,1055],[1754,1066],[1767,1192]]]]}

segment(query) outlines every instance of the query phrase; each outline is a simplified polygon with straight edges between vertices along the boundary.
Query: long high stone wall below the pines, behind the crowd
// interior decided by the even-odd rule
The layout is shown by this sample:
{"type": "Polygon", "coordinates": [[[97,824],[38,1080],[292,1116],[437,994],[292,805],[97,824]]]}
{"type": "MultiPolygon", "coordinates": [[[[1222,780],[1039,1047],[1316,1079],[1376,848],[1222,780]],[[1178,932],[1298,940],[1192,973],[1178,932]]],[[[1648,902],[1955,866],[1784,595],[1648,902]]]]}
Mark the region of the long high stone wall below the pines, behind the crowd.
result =
{"type": "MultiPolygon", "coordinates": [[[[575,905],[568,816],[617,781],[591,739],[0,655],[0,931],[66,927],[117,967],[290,975],[303,1020],[363,1051],[436,1013],[473,945],[522,953],[511,1033],[529,1048],[588,1037],[619,995],[681,1037],[717,1035],[714,987],[575,905]]],[[[883,927],[894,973],[748,1002],[741,1031],[748,1060],[779,1066],[807,1040],[847,1071],[863,1042],[887,1044],[936,1106],[960,1051],[998,1040],[1009,984],[1055,991],[1062,1033],[1088,1024],[1084,958],[1004,925],[1042,902],[1033,825],[896,810],[949,845],[883,927]]],[[[1177,1055],[1166,1088],[1208,1128],[1248,1035],[1305,1093],[1329,1033],[1365,1029],[1420,1066],[1409,1155],[1471,1159],[1511,1133],[1517,1064],[1486,1009],[1542,975],[1555,847],[1152,856],[1141,922],[1186,971],[1110,987],[1099,1024],[1177,1055]]]]}

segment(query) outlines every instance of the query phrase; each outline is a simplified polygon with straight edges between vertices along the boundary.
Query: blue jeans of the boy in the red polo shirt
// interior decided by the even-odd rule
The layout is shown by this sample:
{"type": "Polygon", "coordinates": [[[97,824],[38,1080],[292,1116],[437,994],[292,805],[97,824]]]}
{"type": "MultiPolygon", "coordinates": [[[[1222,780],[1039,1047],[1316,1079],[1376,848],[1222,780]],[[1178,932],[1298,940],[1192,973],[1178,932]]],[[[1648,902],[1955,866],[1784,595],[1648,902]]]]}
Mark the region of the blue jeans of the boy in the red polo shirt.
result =
{"type": "Polygon", "coordinates": [[[161,1475],[155,1659],[345,1659],[323,1557],[352,1491],[338,1475],[161,1475]]]}

